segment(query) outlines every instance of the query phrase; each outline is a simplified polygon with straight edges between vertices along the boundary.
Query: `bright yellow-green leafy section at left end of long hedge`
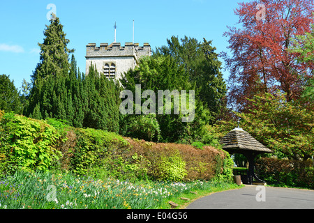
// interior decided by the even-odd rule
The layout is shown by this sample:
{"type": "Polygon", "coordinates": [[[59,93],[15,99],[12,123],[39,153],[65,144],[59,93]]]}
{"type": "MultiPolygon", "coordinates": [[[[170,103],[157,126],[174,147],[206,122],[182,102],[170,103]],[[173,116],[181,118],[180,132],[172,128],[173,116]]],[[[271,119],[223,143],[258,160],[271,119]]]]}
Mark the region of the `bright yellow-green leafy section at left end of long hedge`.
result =
{"type": "Polygon", "coordinates": [[[59,133],[45,121],[6,113],[0,126],[2,173],[15,169],[46,170],[61,155],[54,148],[59,133]]]}

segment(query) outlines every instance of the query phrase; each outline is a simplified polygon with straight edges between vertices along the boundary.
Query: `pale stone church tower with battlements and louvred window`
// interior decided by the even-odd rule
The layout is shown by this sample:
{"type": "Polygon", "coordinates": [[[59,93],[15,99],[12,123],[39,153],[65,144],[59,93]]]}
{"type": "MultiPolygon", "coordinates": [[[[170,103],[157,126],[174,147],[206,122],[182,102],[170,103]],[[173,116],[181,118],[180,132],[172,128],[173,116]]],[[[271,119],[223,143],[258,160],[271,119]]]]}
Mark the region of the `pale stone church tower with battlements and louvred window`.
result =
{"type": "Polygon", "coordinates": [[[141,56],[151,56],[151,46],[144,43],[142,47],[138,43],[89,43],[86,50],[86,74],[89,73],[89,66],[93,63],[98,72],[108,78],[120,79],[124,72],[130,68],[134,69],[141,56]]]}

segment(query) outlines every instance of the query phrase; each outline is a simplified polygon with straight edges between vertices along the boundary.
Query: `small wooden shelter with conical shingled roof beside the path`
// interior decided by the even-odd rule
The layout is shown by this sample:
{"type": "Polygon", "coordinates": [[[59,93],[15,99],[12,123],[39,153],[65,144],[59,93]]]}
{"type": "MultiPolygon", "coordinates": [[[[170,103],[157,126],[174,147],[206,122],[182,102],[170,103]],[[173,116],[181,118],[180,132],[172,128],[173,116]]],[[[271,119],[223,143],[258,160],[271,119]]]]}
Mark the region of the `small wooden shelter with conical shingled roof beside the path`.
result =
{"type": "Polygon", "coordinates": [[[264,181],[257,178],[254,173],[254,160],[260,153],[272,153],[273,151],[254,139],[251,134],[239,128],[239,126],[220,139],[220,144],[223,145],[223,150],[230,153],[230,155],[241,153],[248,159],[248,171],[246,173],[240,173],[243,183],[264,183],[264,181]]]}

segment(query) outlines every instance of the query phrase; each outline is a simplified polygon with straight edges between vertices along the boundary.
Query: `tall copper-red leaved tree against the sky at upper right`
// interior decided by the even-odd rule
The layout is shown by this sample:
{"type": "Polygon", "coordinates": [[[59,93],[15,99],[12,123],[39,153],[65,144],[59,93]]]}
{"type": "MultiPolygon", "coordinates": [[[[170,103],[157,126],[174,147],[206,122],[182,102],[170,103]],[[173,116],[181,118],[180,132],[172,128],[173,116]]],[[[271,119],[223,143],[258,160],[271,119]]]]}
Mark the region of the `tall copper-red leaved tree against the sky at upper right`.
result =
{"type": "Polygon", "coordinates": [[[313,76],[313,66],[297,61],[290,52],[292,38],[311,32],[313,0],[261,0],[239,3],[237,27],[228,27],[230,52],[223,59],[230,70],[229,102],[245,112],[259,93],[286,93],[289,102],[299,98],[304,79],[313,76]]]}

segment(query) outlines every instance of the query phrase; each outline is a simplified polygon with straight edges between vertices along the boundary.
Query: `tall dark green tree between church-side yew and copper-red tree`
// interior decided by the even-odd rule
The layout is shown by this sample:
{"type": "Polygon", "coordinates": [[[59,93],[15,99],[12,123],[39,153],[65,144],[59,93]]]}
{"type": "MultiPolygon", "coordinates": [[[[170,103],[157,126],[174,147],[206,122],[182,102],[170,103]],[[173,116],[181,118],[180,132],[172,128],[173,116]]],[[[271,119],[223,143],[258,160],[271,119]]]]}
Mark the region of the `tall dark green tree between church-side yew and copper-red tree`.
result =
{"type": "Polygon", "coordinates": [[[226,85],[221,72],[221,62],[218,60],[216,47],[205,38],[203,42],[195,38],[179,38],[172,36],[167,39],[167,46],[156,48],[154,56],[170,55],[184,66],[188,80],[195,84],[197,96],[211,113],[211,123],[214,123],[220,111],[225,107],[226,85]]]}

